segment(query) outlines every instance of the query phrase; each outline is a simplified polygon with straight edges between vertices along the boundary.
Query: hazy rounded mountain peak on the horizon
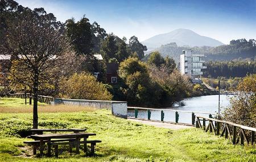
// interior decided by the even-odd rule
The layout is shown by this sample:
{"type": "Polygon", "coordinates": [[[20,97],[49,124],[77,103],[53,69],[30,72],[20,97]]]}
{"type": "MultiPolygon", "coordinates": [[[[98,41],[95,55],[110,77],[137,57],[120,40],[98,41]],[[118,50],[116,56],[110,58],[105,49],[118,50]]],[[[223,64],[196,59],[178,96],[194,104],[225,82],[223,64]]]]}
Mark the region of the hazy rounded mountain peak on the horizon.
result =
{"type": "Polygon", "coordinates": [[[152,50],[171,42],[175,42],[178,46],[188,45],[190,47],[216,47],[218,45],[224,45],[218,40],[209,38],[207,36],[201,36],[196,34],[196,32],[184,28],[171,31],[166,34],[153,36],[147,40],[142,41],[142,44],[146,45],[147,49],[152,50]]]}

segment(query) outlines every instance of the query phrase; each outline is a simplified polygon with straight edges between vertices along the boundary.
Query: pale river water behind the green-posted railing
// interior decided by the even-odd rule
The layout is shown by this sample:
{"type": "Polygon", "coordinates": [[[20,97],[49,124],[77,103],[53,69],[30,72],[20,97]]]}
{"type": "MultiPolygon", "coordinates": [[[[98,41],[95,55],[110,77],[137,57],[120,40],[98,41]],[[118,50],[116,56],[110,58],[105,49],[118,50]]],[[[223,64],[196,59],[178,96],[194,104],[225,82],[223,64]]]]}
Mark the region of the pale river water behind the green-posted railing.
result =
{"type": "MultiPolygon", "coordinates": [[[[224,110],[226,106],[229,105],[229,98],[231,95],[220,95],[220,107],[224,110]]],[[[173,109],[177,111],[189,111],[190,113],[179,112],[179,123],[192,123],[192,113],[195,113],[203,117],[209,117],[209,114],[218,113],[218,95],[204,95],[201,97],[186,98],[183,100],[185,106],[170,107],[166,109],[173,109]],[[201,114],[209,113],[209,114],[201,114]]],[[[164,110],[164,121],[175,122],[175,111],[164,110]]],[[[135,117],[134,110],[128,111],[128,117],[135,117]]],[[[213,115],[214,117],[214,115],[213,115]]],[[[147,119],[147,110],[139,110],[138,118],[147,119]]],[[[160,110],[151,111],[151,119],[159,120],[161,119],[160,110]]]]}

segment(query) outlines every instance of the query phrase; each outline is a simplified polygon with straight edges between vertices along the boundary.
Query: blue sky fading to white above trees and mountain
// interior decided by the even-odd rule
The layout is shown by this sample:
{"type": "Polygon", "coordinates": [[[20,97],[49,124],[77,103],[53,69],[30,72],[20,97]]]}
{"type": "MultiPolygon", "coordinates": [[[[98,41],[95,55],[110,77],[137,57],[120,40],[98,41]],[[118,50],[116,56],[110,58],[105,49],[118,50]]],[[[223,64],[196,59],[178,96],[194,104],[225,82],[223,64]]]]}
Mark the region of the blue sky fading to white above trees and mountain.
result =
{"type": "Polygon", "coordinates": [[[229,44],[233,39],[256,39],[256,0],[16,0],[31,9],[43,7],[57,20],[85,15],[106,32],[139,41],[187,28],[229,44]]]}

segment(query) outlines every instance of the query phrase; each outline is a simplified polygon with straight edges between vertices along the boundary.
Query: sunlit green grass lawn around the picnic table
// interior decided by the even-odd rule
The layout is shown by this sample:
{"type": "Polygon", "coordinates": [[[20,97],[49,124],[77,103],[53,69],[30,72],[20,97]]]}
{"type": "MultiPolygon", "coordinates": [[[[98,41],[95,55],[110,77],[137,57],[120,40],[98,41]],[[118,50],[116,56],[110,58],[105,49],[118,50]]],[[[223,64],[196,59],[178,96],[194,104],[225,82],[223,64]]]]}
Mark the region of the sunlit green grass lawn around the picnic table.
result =
{"type": "MultiPolygon", "coordinates": [[[[7,103],[1,107],[11,109],[7,103]]],[[[64,152],[57,159],[28,156],[31,148],[23,141],[29,139],[22,137],[32,127],[32,113],[19,111],[0,113],[0,161],[256,161],[255,147],[233,146],[197,128],[173,131],[116,118],[108,110],[84,107],[75,111],[39,113],[39,127],[76,127],[95,132],[97,136],[92,139],[102,140],[96,146],[95,157],[86,157],[82,151],[80,155],[64,152]]]]}

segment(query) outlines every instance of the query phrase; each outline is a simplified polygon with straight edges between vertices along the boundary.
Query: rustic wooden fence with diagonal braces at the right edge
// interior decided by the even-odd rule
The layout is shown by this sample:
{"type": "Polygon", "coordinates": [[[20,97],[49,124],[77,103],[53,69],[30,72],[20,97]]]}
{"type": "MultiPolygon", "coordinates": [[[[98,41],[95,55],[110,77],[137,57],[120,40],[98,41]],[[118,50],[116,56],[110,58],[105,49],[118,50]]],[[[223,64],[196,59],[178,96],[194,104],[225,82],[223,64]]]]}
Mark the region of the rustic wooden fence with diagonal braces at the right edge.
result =
{"type": "Polygon", "coordinates": [[[233,144],[243,145],[245,142],[246,144],[255,144],[256,128],[200,116],[196,117],[196,127],[202,128],[205,132],[209,131],[215,135],[225,136],[233,144]],[[203,121],[203,124],[200,121],[203,121]],[[207,122],[208,125],[206,125],[207,122]]]}

